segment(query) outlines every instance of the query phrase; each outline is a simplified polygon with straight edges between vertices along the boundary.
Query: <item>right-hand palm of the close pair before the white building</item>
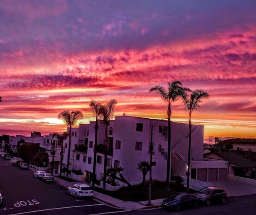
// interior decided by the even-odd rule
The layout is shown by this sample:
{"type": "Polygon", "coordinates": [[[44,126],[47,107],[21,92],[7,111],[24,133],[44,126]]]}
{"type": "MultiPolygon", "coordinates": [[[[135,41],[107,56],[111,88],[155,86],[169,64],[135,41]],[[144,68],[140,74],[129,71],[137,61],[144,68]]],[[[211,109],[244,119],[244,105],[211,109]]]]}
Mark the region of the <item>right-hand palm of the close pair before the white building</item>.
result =
{"type": "Polygon", "coordinates": [[[106,189],[107,150],[108,150],[108,147],[109,147],[109,139],[107,137],[107,127],[110,125],[110,119],[112,119],[112,117],[113,117],[115,106],[116,106],[116,100],[112,99],[109,102],[107,102],[106,105],[101,105],[101,107],[99,109],[99,117],[101,119],[101,123],[105,126],[103,190],[106,189]]]}

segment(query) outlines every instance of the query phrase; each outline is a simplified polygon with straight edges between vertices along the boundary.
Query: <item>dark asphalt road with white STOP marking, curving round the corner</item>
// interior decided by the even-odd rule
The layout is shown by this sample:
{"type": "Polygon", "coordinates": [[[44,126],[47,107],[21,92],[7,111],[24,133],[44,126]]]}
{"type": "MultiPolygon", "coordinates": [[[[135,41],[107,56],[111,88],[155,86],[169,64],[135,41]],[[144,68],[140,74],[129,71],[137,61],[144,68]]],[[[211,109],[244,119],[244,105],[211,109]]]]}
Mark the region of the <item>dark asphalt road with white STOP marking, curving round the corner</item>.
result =
{"type": "Polygon", "coordinates": [[[75,200],[66,188],[57,183],[45,183],[33,177],[33,171],[20,170],[0,158],[0,190],[4,204],[0,215],[256,215],[256,195],[229,198],[221,205],[200,206],[181,212],[162,208],[125,211],[107,206],[94,199],[75,200]]]}

